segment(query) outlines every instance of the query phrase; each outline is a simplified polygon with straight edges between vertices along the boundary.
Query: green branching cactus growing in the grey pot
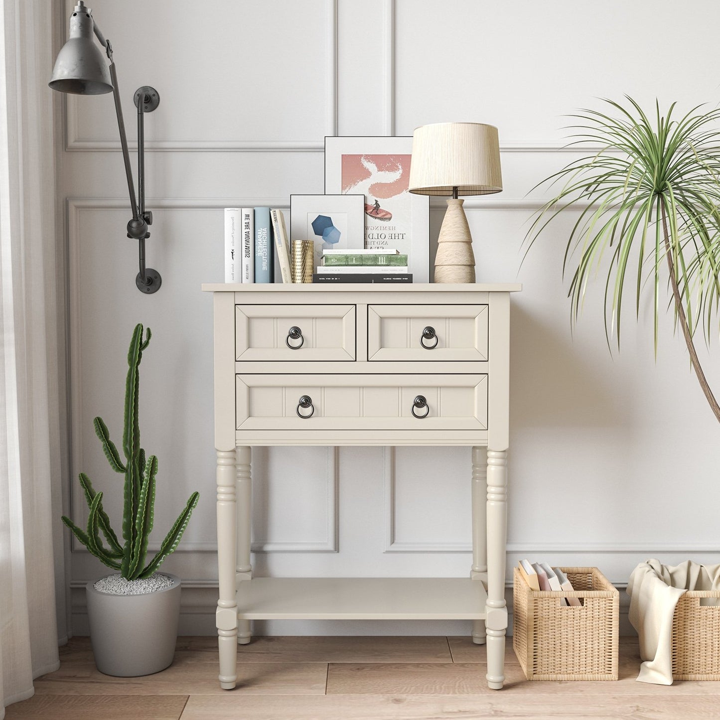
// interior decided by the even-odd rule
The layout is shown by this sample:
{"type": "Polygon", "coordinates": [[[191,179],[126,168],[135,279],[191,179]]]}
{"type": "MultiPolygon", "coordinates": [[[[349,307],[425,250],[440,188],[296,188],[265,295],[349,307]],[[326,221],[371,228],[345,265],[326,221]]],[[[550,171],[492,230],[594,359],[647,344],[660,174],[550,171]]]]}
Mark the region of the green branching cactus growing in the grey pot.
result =
{"type": "Polygon", "coordinates": [[[70,518],[63,516],[63,523],[73,531],[76,538],[100,562],[120,570],[125,580],[136,580],[150,577],[158,570],[163,560],[178,546],[182,534],[192,515],[192,510],[199,499],[199,494],[190,495],[184,510],[165,536],[155,557],[145,564],[148,553],[148,538],[153,529],[153,512],[155,508],[155,478],[158,473],[158,459],[150,455],[145,459],[145,451],[140,447],[140,426],[138,423],[138,396],[140,377],[138,368],[143,359],[143,350],[150,343],[150,328],[143,341],[143,325],[135,326],[127,353],[127,382],[125,384],[125,429],[122,433],[122,449],[125,463],[120,459],[117,447],[109,436],[107,425],[102,418],[95,418],[95,434],[102,443],[102,449],[110,467],[115,472],[125,473],[125,503],[122,515],[122,537],[125,544],[120,545],[117,535],[110,526],[107,513],[102,508],[102,492],[95,492],[89,477],[81,472],[80,485],[90,508],[87,531],[78,528],[70,518]],[[105,537],[103,544],[100,533],[105,537]]]}

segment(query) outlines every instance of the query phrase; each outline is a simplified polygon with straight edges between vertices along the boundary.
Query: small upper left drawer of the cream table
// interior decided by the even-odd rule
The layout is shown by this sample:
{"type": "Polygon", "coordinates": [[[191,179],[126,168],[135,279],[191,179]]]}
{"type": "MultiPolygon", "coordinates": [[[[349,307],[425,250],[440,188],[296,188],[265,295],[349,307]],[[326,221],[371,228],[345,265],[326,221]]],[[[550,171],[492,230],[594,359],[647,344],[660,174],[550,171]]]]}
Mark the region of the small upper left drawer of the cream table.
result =
{"type": "Polygon", "coordinates": [[[352,361],[355,348],[355,305],[235,305],[238,361],[352,361]]]}

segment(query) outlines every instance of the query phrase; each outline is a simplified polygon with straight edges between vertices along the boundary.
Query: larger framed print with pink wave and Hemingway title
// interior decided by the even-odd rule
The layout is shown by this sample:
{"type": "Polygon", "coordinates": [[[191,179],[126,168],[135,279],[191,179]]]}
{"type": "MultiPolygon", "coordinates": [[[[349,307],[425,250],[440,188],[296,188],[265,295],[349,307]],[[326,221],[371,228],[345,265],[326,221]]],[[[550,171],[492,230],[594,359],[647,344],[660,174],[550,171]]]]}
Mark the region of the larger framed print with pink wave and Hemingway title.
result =
{"type": "Polygon", "coordinates": [[[325,192],[364,195],[366,248],[408,255],[414,282],[430,280],[430,199],[408,191],[413,138],[325,138],[325,192]]]}

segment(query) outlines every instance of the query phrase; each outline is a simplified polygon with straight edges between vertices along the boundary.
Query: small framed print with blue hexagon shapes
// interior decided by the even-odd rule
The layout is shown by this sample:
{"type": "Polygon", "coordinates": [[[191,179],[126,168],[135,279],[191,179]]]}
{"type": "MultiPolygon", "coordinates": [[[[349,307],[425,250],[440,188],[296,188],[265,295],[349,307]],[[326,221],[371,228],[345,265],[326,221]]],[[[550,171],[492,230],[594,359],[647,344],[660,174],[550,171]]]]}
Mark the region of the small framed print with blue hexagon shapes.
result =
{"type": "Polygon", "coordinates": [[[361,194],[291,195],[290,243],[315,242],[315,267],[323,250],[361,250],[364,247],[364,197],[361,194]]]}

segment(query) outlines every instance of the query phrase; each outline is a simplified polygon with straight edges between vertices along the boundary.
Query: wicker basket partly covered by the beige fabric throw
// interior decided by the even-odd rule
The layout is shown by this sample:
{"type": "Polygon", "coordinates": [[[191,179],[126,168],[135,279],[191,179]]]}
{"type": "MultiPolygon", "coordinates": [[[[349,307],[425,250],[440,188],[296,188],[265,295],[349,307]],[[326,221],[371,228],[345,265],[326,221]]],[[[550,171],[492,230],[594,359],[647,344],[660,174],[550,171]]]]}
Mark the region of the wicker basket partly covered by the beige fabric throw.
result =
{"type": "Polygon", "coordinates": [[[720,606],[701,605],[720,598],[719,590],[688,590],[672,616],[672,679],[720,680],[720,606]]]}

